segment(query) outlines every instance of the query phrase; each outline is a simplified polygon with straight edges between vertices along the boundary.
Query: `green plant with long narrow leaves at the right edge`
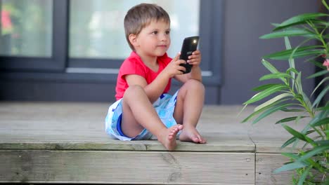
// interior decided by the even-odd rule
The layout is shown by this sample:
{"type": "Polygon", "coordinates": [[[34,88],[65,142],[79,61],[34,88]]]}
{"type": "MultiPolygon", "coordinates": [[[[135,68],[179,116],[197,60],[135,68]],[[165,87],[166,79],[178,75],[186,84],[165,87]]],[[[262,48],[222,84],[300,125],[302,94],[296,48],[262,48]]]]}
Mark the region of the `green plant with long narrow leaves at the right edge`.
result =
{"type": "Polygon", "coordinates": [[[282,148],[290,144],[295,148],[297,142],[304,142],[304,146],[298,149],[298,153],[283,153],[284,156],[291,158],[292,162],[275,170],[275,172],[295,170],[295,175],[292,177],[294,184],[329,184],[329,102],[321,104],[321,100],[329,91],[328,82],[325,85],[329,80],[329,22],[327,20],[329,6],[325,0],[322,0],[322,3],[327,13],[297,15],[281,24],[273,24],[275,26],[273,32],[260,37],[261,39],[284,38],[285,40],[286,50],[264,56],[262,64],[269,69],[271,74],[266,74],[259,79],[260,81],[276,79],[280,83],[268,83],[254,88],[259,93],[244,103],[246,107],[248,104],[269,98],[270,95],[278,94],[256,107],[254,112],[243,120],[243,123],[252,119],[252,123],[257,123],[276,111],[293,111],[297,114],[297,116],[282,118],[276,122],[292,135],[282,148]],[[303,38],[303,41],[295,48],[290,45],[289,38],[292,36],[303,38]],[[314,40],[318,43],[317,45],[307,45],[309,41],[314,40]],[[311,102],[312,95],[308,96],[303,91],[302,71],[298,71],[295,67],[297,57],[306,57],[308,62],[321,68],[321,71],[308,78],[327,76],[314,89],[314,92],[318,94],[312,93],[316,96],[313,102],[311,102]],[[288,60],[289,69],[278,71],[266,61],[269,59],[288,60]],[[318,61],[319,59],[321,61],[318,61]],[[321,85],[324,85],[324,88],[319,90],[321,85]],[[286,124],[291,121],[298,123],[304,118],[308,118],[309,122],[303,130],[294,130],[286,124]]]}

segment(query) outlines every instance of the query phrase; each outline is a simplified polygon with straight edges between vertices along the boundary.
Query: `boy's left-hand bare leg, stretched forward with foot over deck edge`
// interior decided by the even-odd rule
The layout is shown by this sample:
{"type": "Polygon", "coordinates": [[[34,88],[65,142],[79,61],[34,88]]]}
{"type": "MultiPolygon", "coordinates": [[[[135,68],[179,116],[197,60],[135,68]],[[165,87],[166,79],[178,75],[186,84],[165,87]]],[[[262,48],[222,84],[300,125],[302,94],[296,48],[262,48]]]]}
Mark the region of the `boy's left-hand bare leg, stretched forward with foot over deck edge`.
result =
{"type": "Polygon", "coordinates": [[[138,85],[129,87],[122,102],[122,132],[128,137],[136,137],[146,128],[168,149],[176,147],[176,135],[183,129],[182,125],[166,128],[153,105],[148,100],[143,88],[138,85]]]}

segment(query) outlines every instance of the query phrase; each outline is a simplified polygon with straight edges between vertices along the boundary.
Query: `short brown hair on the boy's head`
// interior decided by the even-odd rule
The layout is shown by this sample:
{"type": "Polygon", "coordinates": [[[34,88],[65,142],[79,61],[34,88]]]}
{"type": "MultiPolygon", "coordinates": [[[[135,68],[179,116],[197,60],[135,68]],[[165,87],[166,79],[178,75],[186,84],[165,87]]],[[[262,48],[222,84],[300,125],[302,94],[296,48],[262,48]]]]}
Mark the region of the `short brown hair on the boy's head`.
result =
{"type": "Polygon", "coordinates": [[[162,20],[170,24],[168,13],[156,4],[138,4],[129,9],[124,17],[124,32],[132,50],[134,50],[134,46],[129,41],[129,35],[138,35],[152,20],[162,20]]]}

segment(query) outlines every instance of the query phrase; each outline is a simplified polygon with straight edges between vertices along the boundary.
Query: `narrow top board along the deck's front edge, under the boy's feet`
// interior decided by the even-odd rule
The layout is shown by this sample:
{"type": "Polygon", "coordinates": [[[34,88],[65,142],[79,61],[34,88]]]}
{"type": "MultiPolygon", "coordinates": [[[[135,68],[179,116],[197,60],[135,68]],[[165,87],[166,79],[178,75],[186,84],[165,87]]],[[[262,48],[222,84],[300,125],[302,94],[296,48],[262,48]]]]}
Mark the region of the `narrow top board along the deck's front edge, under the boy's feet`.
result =
{"type": "MultiPolygon", "coordinates": [[[[194,144],[191,142],[177,141],[175,151],[236,151],[254,152],[254,144],[241,140],[218,142],[216,139],[206,137],[207,144],[194,144]]],[[[166,151],[156,140],[144,141],[119,141],[108,139],[108,142],[96,141],[48,141],[48,140],[18,140],[6,141],[0,139],[0,149],[39,149],[39,150],[120,150],[120,151],[166,151]]]]}

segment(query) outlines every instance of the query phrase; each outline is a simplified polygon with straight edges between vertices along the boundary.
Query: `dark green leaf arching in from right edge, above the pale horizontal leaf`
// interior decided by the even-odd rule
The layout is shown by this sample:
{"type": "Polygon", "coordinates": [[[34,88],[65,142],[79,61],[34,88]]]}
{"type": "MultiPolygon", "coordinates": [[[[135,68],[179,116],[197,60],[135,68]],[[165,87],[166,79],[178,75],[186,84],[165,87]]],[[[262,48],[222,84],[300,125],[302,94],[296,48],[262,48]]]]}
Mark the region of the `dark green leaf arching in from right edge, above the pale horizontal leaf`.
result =
{"type": "Polygon", "coordinates": [[[288,20],[285,20],[280,25],[278,25],[278,27],[273,29],[273,31],[277,31],[279,29],[284,29],[286,27],[291,27],[293,25],[305,24],[307,20],[314,20],[316,18],[321,18],[321,17],[325,17],[325,16],[329,16],[329,15],[325,14],[325,13],[304,13],[302,15],[297,15],[288,20]]]}

